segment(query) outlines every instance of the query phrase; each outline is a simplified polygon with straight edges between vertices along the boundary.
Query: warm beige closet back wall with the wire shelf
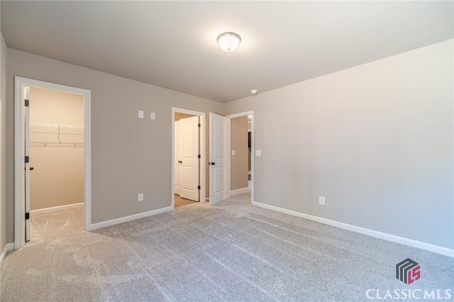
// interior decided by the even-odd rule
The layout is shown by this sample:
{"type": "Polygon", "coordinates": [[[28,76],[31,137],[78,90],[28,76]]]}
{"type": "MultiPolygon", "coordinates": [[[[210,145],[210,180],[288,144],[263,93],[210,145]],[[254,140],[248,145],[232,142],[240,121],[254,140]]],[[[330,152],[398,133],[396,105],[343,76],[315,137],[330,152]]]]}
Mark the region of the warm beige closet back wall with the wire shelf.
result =
{"type": "Polygon", "coordinates": [[[84,100],[31,87],[31,211],[84,201],[84,100]]]}

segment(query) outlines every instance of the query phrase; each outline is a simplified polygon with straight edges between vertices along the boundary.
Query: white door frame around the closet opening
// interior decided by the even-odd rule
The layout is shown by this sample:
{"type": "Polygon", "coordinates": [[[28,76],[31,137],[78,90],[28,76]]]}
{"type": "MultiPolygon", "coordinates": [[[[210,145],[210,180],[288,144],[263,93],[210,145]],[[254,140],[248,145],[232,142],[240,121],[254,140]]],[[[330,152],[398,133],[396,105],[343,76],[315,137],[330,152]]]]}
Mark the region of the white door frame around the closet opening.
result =
{"type": "MultiPolygon", "coordinates": [[[[89,230],[92,221],[92,146],[91,146],[91,94],[87,89],[65,86],[36,79],[14,77],[14,249],[25,245],[25,171],[23,169],[24,150],[24,88],[33,86],[52,89],[84,98],[84,229],[89,230]]],[[[32,159],[33,160],[33,159],[32,159]]]]}

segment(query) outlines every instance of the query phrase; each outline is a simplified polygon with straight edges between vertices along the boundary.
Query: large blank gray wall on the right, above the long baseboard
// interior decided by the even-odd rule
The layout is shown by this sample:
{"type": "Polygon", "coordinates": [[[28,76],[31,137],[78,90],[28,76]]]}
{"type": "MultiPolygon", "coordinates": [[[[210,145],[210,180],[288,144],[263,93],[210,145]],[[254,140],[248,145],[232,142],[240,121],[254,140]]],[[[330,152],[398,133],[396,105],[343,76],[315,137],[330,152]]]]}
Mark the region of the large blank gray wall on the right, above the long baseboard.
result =
{"type": "Polygon", "coordinates": [[[255,201],[453,249],[453,40],[226,105],[250,110],[255,201]]]}

